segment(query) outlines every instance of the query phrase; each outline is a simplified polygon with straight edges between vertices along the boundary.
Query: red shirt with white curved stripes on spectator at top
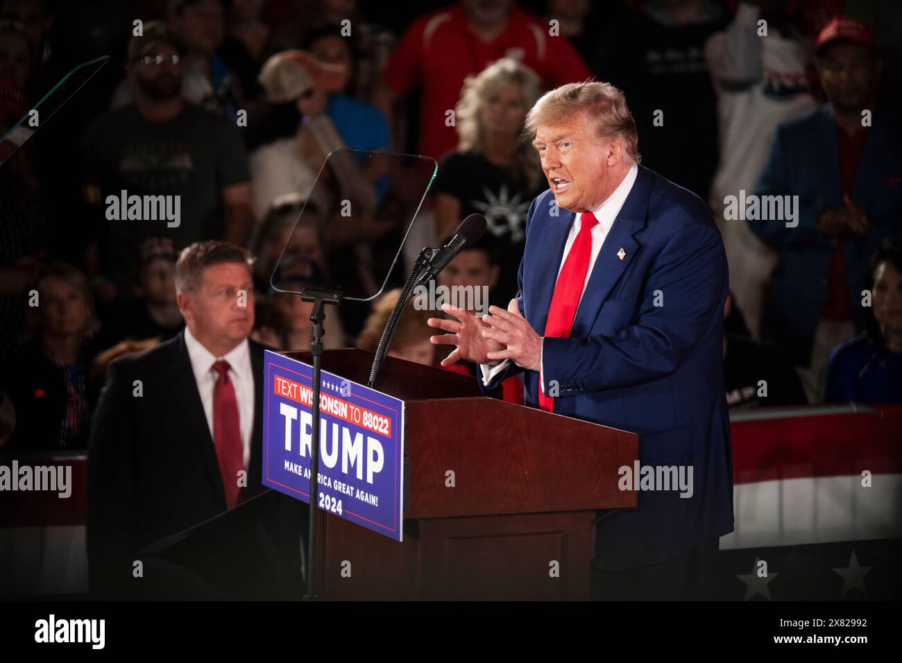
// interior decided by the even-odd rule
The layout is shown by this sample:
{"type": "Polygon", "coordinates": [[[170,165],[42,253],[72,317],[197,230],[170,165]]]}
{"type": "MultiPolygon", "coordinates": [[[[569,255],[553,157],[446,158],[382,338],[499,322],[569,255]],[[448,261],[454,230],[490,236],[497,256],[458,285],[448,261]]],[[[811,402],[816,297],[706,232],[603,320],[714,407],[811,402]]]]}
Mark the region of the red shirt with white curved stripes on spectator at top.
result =
{"type": "Polygon", "coordinates": [[[566,37],[548,34],[548,23],[511,7],[507,28],[492,41],[470,32],[463,5],[421,16],[401,37],[382,73],[397,94],[420,87],[419,152],[438,159],[457,145],[454,126],[446,125],[464,79],[495,60],[517,58],[535,71],[548,88],[592,78],[566,37]]]}

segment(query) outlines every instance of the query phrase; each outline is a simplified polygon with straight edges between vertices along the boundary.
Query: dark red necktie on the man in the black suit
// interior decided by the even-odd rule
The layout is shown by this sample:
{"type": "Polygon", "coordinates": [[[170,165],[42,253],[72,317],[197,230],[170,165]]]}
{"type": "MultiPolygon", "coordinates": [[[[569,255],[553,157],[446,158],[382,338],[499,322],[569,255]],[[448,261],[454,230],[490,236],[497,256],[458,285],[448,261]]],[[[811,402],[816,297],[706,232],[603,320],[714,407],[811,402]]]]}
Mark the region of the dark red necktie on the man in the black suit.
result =
{"type": "Polygon", "coordinates": [[[223,488],[226,490],[226,508],[231,509],[238,503],[241,492],[238,473],[244,469],[241,421],[238,419],[235,384],[228,376],[228,362],[215,362],[213,370],[219,373],[213,388],[213,443],[216,446],[219,473],[223,477],[223,488]]]}

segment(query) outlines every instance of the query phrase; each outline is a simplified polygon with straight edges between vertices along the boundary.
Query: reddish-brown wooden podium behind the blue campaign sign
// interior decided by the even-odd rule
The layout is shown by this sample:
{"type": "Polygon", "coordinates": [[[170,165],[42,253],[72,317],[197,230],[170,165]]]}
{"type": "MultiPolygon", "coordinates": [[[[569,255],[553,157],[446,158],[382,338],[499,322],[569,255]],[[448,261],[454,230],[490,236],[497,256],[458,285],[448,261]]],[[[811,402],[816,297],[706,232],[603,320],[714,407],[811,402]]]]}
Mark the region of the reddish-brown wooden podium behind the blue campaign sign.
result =
{"type": "MultiPolygon", "coordinates": [[[[309,353],[284,353],[311,364],[309,353]]],[[[323,370],[366,383],[373,355],[330,350],[323,370]]],[[[388,357],[376,389],[405,401],[404,540],[319,511],[328,600],[587,600],[597,511],[639,437],[483,397],[475,378],[388,357]]]]}

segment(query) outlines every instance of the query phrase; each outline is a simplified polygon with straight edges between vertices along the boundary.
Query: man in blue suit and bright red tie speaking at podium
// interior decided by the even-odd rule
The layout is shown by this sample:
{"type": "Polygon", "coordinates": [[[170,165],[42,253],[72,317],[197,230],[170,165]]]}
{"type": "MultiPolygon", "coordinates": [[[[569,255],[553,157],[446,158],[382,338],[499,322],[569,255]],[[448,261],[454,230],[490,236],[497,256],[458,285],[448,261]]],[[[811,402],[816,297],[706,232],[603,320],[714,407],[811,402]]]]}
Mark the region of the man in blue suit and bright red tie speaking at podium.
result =
{"type": "Polygon", "coordinates": [[[529,207],[520,293],[483,318],[445,307],[456,319],[430,318],[447,332],[431,340],[456,345],[443,365],[482,364],[484,390],[524,372],[527,405],[638,433],[643,469],[676,467],[686,489],[643,483],[635,509],[598,520],[594,596],[704,597],[733,529],[720,233],[700,198],[640,166],[615,87],[557,87],[526,129],[550,189],[529,207]]]}

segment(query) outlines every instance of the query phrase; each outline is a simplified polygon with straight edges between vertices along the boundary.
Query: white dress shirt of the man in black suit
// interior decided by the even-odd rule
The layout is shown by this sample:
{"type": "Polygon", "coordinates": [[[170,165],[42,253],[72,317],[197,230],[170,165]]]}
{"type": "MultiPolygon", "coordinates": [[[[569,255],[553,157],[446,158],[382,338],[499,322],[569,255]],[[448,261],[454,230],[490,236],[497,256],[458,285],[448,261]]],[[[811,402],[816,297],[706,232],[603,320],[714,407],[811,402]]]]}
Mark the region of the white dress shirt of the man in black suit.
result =
{"type": "Polygon", "coordinates": [[[213,437],[213,390],[219,373],[213,370],[213,364],[225,359],[229,364],[228,375],[235,386],[235,400],[238,401],[238,422],[241,426],[241,442],[244,447],[244,469],[251,460],[251,434],[253,432],[253,369],[251,368],[251,351],[247,339],[235,345],[235,348],[224,357],[210,354],[200,341],[192,336],[185,327],[185,345],[188,345],[188,356],[191,370],[198,382],[200,401],[204,404],[207,415],[207,428],[213,437]]]}

